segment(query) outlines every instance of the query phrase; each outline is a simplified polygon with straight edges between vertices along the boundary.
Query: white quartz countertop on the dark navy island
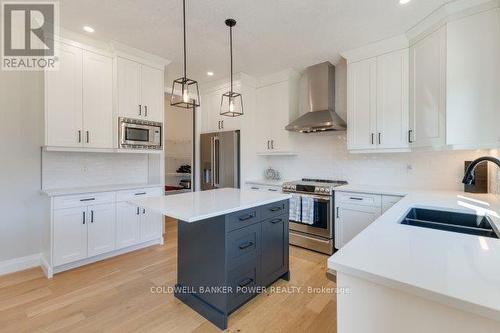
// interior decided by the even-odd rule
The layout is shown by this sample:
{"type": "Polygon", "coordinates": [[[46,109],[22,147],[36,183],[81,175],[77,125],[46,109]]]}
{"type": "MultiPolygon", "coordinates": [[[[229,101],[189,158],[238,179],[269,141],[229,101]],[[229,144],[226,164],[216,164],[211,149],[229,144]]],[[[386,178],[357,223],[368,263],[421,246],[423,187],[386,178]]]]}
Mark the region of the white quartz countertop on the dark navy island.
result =
{"type": "Polygon", "coordinates": [[[135,199],[131,203],[178,220],[196,222],[290,198],[291,195],[278,192],[223,188],[135,199]]]}

